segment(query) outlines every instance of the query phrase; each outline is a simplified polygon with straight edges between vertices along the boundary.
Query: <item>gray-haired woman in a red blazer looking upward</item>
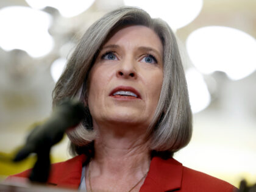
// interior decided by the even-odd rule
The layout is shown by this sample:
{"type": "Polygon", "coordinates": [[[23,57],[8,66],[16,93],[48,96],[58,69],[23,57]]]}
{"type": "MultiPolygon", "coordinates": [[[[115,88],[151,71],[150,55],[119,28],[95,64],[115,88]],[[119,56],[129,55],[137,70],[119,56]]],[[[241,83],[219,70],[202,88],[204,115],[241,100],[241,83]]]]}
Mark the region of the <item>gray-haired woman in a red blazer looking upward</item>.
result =
{"type": "MultiPolygon", "coordinates": [[[[191,110],[176,38],[162,20],[114,10],[84,34],[53,91],[79,98],[68,132],[77,156],[52,165],[49,183],[87,191],[233,191],[172,154],[191,138],[191,110]]],[[[18,176],[26,176],[27,172],[18,176]]]]}

